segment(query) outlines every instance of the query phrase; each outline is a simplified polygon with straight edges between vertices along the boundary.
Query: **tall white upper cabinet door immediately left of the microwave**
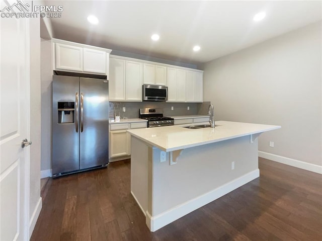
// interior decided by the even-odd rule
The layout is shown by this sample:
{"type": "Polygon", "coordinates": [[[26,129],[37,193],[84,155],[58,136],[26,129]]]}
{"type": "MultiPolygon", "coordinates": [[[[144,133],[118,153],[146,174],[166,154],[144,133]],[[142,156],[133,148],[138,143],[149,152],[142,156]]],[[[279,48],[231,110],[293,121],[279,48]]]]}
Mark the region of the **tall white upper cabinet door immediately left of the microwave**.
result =
{"type": "Polygon", "coordinates": [[[142,101],[143,64],[126,60],[126,100],[142,101]]]}

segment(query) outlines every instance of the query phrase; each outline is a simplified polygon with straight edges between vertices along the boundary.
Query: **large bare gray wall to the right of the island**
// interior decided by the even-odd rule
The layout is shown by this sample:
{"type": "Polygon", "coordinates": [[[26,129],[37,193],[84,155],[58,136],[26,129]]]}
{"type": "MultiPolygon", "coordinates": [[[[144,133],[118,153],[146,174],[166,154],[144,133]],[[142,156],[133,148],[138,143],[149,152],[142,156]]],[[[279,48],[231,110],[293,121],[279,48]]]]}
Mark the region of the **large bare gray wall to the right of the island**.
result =
{"type": "Polygon", "coordinates": [[[259,150],[321,166],[321,50],[318,22],[208,62],[204,100],[216,120],[281,125],[259,150]]]}

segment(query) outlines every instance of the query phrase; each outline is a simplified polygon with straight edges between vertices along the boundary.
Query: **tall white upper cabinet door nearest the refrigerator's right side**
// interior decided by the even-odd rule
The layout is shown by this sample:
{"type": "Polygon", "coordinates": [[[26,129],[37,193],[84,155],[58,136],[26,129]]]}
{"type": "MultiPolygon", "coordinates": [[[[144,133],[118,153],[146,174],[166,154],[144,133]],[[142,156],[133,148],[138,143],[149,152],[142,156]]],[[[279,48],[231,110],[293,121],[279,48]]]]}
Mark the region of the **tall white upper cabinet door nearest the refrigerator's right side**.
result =
{"type": "Polygon", "coordinates": [[[110,101],[125,101],[125,60],[110,58],[110,101]]]}

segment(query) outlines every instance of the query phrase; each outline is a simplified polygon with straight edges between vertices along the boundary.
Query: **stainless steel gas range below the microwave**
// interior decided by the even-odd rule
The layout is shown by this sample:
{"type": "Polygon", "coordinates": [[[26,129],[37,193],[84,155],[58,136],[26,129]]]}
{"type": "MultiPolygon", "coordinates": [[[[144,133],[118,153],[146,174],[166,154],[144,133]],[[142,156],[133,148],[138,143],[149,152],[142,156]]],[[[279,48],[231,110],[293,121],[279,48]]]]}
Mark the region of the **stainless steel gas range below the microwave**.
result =
{"type": "Polygon", "coordinates": [[[169,126],[175,124],[175,119],[163,116],[163,110],[160,108],[140,109],[139,117],[147,120],[147,127],[169,126]]]}

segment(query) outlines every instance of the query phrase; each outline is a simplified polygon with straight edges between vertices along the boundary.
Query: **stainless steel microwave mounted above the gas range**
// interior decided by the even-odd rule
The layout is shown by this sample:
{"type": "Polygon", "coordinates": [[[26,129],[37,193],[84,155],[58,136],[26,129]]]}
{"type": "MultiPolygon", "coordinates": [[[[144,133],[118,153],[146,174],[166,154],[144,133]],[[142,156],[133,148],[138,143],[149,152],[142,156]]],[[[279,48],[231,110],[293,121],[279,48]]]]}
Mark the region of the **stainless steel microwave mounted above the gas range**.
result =
{"type": "Polygon", "coordinates": [[[143,85],[142,100],[143,101],[167,101],[168,87],[157,86],[157,85],[143,85]]]}

